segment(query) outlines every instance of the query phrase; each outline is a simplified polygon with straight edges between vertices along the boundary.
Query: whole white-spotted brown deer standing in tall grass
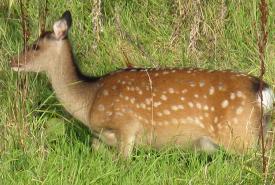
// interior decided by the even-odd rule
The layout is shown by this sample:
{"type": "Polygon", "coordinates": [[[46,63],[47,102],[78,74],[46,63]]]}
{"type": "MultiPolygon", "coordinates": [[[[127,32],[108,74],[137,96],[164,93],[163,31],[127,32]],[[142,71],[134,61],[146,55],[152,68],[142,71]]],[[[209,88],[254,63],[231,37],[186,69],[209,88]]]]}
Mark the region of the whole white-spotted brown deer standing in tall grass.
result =
{"type": "MultiPolygon", "coordinates": [[[[127,68],[99,78],[75,63],[69,11],[11,62],[15,71],[45,72],[65,109],[97,139],[128,157],[134,146],[174,145],[246,152],[257,145],[261,125],[260,80],[206,69],[127,68]]],[[[274,102],[262,89],[263,125],[274,102]]]]}

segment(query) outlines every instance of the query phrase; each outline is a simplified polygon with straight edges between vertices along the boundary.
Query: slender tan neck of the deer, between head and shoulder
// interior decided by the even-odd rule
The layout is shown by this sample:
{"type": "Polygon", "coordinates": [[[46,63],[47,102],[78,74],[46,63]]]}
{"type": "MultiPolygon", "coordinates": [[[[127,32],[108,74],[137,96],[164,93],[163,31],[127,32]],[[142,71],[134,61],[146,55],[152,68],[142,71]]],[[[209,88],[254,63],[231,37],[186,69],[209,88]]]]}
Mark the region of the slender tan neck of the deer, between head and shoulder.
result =
{"type": "Polygon", "coordinates": [[[72,52],[60,53],[54,68],[47,72],[57,98],[75,118],[90,125],[89,112],[97,91],[97,82],[80,78],[72,52]]]}

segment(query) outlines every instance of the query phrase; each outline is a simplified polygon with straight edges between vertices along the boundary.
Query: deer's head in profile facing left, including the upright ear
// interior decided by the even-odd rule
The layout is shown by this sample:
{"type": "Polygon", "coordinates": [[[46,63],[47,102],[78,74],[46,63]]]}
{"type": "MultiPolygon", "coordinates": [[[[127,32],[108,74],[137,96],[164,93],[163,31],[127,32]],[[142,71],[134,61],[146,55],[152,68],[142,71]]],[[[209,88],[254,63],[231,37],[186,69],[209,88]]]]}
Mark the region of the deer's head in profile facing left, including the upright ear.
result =
{"type": "Polygon", "coordinates": [[[60,57],[71,51],[68,31],[72,25],[69,11],[64,12],[53,25],[53,31],[47,31],[22,53],[11,61],[14,71],[48,71],[58,65],[60,57]]]}

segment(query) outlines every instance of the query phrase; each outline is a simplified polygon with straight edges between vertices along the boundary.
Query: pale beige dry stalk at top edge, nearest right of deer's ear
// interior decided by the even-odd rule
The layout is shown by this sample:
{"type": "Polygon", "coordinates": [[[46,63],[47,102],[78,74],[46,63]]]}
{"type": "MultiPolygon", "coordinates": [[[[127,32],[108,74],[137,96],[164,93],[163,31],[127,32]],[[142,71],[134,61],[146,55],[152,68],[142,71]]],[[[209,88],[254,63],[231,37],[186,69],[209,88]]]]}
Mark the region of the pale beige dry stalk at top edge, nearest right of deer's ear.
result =
{"type": "Polygon", "coordinates": [[[93,0],[92,19],[93,19],[93,33],[95,40],[93,42],[93,48],[97,48],[100,42],[100,33],[103,32],[103,25],[101,19],[101,0],[93,0]]]}

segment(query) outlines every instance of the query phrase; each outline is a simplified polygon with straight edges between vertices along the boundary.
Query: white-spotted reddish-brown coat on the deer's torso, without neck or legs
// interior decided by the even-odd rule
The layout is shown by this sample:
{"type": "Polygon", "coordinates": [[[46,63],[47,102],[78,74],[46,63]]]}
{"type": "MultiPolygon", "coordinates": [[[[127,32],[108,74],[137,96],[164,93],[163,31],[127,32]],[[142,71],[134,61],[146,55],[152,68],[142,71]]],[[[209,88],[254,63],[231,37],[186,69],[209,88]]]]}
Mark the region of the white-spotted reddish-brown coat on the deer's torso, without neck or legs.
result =
{"type": "Polygon", "coordinates": [[[192,69],[118,72],[100,81],[91,124],[98,131],[114,133],[124,129],[123,124],[130,125],[127,129],[138,127],[136,137],[142,142],[137,143],[154,147],[169,143],[184,146],[207,136],[228,149],[242,151],[255,144],[260,123],[257,97],[251,91],[253,80],[238,73],[192,69]],[[209,94],[211,87],[213,94],[209,94]],[[234,99],[230,99],[232,93],[234,99]],[[225,100],[228,105],[223,108],[225,100]]]}

